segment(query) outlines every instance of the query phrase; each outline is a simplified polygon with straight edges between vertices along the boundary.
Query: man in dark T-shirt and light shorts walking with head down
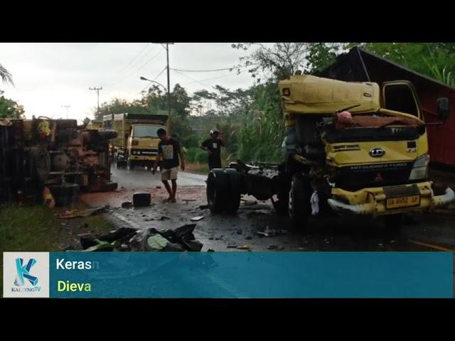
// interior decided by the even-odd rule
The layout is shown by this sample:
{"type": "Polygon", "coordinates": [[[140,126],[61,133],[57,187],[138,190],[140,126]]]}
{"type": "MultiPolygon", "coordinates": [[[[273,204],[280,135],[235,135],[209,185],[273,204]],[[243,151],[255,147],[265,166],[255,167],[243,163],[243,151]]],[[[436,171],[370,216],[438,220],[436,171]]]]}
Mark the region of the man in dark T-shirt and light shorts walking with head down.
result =
{"type": "Polygon", "coordinates": [[[162,166],[160,167],[161,181],[164,183],[164,186],[169,194],[169,197],[165,200],[165,202],[176,202],[177,173],[179,165],[178,156],[180,156],[181,160],[181,170],[185,171],[183,153],[178,141],[173,137],[168,136],[165,129],[158,129],[156,133],[161,141],[159,141],[158,144],[158,155],[156,156],[153,173],[155,174],[159,161],[163,159],[162,166]],[[168,180],[171,180],[172,189],[169,186],[168,180]]]}

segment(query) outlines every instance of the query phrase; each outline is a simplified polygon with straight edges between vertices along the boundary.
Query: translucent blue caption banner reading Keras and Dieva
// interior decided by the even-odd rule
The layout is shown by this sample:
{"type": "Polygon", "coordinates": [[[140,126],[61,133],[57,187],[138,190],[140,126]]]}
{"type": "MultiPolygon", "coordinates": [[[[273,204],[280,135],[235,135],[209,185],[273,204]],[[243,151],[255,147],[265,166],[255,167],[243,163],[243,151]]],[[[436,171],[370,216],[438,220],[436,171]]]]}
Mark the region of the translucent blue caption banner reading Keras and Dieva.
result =
{"type": "Polygon", "coordinates": [[[51,252],[51,298],[452,298],[449,252],[51,252]]]}

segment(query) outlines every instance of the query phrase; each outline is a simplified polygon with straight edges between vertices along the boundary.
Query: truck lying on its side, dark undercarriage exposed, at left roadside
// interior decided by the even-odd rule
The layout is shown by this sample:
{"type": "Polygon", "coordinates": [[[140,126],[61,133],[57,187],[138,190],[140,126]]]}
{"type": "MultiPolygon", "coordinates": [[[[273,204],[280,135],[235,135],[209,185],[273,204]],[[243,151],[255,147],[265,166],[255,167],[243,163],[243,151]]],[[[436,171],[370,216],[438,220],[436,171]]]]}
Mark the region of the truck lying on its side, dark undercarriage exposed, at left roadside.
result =
{"type": "Polygon", "coordinates": [[[109,139],[116,131],[85,129],[75,119],[9,119],[0,122],[0,202],[42,201],[47,187],[65,206],[80,190],[115,190],[109,139]]]}

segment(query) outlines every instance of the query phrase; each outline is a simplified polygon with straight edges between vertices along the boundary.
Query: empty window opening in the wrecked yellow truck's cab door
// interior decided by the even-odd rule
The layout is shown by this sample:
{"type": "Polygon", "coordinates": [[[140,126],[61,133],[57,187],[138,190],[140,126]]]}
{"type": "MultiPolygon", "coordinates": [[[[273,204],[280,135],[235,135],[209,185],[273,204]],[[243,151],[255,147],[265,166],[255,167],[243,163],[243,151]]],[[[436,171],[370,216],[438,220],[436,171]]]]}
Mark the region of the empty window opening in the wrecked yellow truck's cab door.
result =
{"type": "Polygon", "coordinates": [[[382,83],[382,107],[422,119],[417,92],[406,80],[382,83]]]}

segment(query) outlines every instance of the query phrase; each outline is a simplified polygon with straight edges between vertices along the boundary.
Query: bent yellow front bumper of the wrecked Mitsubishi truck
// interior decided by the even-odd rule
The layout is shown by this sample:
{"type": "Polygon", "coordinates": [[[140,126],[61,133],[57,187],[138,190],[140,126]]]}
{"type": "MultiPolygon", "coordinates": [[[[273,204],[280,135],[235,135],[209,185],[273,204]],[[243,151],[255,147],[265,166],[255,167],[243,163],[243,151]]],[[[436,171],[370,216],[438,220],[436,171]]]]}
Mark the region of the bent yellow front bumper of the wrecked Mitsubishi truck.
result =
{"type": "Polygon", "coordinates": [[[355,192],[333,188],[332,198],[327,201],[328,205],[340,214],[376,216],[414,211],[431,211],[434,208],[446,206],[454,202],[454,200],[455,193],[451,188],[446,188],[443,195],[434,195],[432,183],[425,182],[383,188],[364,188],[355,192]],[[409,196],[411,186],[412,190],[414,190],[413,197],[419,197],[418,205],[394,208],[387,207],[387,200],[409,196]],[[397,194],[390,196],[392,190],[397,194]],[[400,195],[400,191],[402,195],[400,195]]]}

